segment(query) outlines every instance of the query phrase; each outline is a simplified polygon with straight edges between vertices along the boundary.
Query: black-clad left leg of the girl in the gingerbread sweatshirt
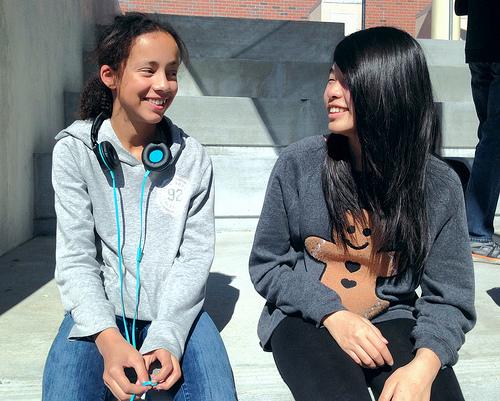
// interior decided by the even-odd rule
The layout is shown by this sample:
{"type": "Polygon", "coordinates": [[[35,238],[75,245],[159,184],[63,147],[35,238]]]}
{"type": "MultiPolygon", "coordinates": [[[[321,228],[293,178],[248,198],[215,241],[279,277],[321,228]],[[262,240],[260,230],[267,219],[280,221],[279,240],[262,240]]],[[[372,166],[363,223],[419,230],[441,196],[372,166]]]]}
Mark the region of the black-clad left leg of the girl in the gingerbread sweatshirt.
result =
{"type": "Polygon", "coordinates": [[[324,328],[287,317],[271,347],[281,377],[296,401],[370,401],[362,368],[324,328]]]}

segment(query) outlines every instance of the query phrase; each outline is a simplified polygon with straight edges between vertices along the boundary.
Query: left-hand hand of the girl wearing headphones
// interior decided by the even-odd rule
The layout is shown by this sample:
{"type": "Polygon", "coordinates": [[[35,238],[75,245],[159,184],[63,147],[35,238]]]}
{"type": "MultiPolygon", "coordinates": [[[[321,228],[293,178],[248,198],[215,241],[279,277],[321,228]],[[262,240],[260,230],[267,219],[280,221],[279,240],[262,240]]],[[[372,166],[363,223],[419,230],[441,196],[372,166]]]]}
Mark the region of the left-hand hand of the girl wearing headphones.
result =
{"type": "Polygon", "coordinates": [[[149,380],[142,355],[123,338],[118,329],[101,331],[95,343],[104,359],[104,383],[116,398],[128,401],[133,394],[142,395],[150,389],[131,383],[125,375],[125,368],[133,368],[137,374],[137,383],[149,380]]]}

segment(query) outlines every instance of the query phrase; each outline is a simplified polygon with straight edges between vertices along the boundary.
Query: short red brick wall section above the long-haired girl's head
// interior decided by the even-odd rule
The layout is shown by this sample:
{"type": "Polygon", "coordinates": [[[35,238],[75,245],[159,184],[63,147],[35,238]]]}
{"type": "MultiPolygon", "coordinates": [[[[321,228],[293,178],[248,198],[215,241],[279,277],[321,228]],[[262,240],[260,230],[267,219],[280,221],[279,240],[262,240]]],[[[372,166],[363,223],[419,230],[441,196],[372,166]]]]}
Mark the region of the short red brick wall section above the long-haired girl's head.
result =
{"type": "Polygon", "coordinates": [[[366,0],[366,27],[395,26],[415,36],[417,16],[432,0],[366,0]]]}

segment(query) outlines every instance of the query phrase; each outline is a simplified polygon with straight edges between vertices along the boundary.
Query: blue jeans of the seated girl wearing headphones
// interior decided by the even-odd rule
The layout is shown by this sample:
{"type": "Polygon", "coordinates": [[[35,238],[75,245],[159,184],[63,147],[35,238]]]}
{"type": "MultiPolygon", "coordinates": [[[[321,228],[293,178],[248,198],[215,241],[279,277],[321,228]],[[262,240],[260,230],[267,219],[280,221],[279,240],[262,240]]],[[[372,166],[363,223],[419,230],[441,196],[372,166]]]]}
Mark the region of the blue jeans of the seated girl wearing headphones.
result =
{"type": "MultiPolygon", "coordinates": [[[[123,332],[122,319],[117,324],[123,332]]],[[[132,325],[130,322],[129,330],[132,325]]],[[[91,340],[69,341],[74,322],[66,314],[49,351],[43,374],[43,401],[110,401],[113,395],[102,379],[104,362],[91,340]]],[[[149,322],[136,324],[138,346],[149,322]]],[[[164,399],[174,401],[235,401],[236,390],[226,349],[206,312],[200,313],[189,334],[181,360],[182,378],[164,399]]],[[[151,390],[149,393],[157,393],[151,390]]],[[[160,399],[159,397],[154,398],[160,399]]]]}

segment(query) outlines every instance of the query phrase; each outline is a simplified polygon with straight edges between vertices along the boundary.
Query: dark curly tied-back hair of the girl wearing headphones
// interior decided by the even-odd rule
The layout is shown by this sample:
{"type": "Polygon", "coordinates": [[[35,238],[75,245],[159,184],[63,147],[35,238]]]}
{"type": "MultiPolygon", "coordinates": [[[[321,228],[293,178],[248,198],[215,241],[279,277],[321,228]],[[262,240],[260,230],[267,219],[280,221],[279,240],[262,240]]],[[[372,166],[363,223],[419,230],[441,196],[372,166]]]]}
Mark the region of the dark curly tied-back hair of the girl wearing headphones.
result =
{"type": "MultiPolygon", "coordinates": [[[[166,22],[156,21],[142,13],[127,13],[115,17],[113,24],[104,29],[94,51],[99,68],[109,65],[119,74],[123,64],[130,55],[134,41],[141,35],[151,32],[165,32],[172,36],[179,48],[180,60],[186,61],[188,51],[186,45],[166,22]]],[[[99,72],[94,74],[85,84],[80,97],[80,117],[83,120],[94,119],[101,112],[109,117],[113,111],[113,95],[101,80],[99,72]]]]}

